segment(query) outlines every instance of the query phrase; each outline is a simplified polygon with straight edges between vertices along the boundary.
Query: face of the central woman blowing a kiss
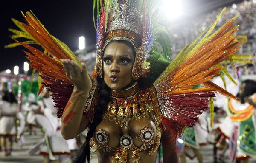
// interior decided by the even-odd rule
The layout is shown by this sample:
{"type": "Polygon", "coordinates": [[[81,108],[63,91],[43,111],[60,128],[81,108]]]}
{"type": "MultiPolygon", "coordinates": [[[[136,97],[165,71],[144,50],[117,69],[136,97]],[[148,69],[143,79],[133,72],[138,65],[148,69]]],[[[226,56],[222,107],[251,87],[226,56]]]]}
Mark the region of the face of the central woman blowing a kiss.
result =
{"type": "Polygon", "coordinates": [[[123,42],[110,42],[103,54],[104,82],[112,90],[120,90],[132,85],[133,64],[134,54],[130,46],[123,42]]]}

